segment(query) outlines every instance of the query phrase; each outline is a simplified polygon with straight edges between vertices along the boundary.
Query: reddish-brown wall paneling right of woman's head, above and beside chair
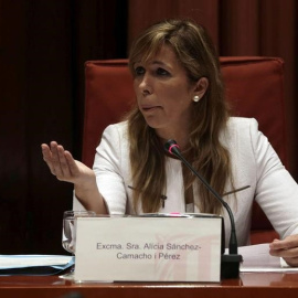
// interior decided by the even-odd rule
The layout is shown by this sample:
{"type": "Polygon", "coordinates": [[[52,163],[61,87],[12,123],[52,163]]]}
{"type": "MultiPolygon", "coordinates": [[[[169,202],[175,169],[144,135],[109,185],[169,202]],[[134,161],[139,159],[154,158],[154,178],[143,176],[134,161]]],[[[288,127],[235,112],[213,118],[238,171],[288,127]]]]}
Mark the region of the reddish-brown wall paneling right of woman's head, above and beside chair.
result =
{"type": "Polygon", "coordinates": [[[295,0],[226,0],[221,3],[221,55],[276,56],[285,61],[288,170],[298,181],[297,13],[295,0]]]}

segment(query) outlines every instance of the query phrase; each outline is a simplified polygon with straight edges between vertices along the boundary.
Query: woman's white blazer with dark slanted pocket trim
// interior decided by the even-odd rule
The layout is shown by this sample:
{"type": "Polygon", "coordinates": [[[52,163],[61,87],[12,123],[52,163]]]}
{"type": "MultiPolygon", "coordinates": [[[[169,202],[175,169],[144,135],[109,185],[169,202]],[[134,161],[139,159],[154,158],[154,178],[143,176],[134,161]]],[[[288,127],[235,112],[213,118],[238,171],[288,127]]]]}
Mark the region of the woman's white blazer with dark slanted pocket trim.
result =
{"type": "MultiPolygon", "coordinates": [[[[249,244],[253,201],[264,210],[280,237],[298,233],[298,185],[267,138],[252,118],[231,117],[221,135],[232,161],[234,187],[251,185],[234,195],[224,196],[230,204],[236,224],[238,245],[249,244]]],[[[127,123],[108,126],[96,149],[93,167],[98,189],[105,198],[110,214],[134,214],[127,123]]],[[[181,161],[167,158],[167,200],[161,213],[188,212],[184,203],[181,161]]],[[[226,192],[231,185],[226,185],[226,192]]],[[[194,188],[194,198],[200,198],[194,188]]],[[[196,199],[195,199],[196,200],[196,199]]],[[[74,209],[83,209],[74,196],[74,209]]],[[[200,212],[194,207],[194,212],[200,212]]],[[[139,205],[137,213],[140,214],[139,205]]],[[[224,211],[225,243],[228,243],[231,225],[224,211]]]]}

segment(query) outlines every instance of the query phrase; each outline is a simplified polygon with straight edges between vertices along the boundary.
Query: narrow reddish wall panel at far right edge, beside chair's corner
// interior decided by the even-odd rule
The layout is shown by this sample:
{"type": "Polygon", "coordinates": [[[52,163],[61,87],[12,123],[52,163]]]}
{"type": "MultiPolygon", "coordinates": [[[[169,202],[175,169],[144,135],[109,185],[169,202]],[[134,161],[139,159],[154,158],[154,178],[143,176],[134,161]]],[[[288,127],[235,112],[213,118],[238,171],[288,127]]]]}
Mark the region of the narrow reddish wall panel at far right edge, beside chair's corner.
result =
{"type": "Polygon", "coordinates": [[[298,2],[260,1],[262,55],[279,56],[285,61],[285,113],[289,171],[298,182],[298,2]]]}

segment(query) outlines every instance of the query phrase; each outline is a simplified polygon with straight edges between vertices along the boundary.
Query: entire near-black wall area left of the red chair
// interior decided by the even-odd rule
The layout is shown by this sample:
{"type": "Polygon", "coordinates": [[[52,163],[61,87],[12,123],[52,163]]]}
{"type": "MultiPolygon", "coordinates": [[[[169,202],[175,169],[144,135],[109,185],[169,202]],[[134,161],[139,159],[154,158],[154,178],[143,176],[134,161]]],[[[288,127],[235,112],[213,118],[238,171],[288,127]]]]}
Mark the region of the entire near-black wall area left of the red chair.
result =
{"type": "Polygon", "coordinates": [[[81,159],[84,62],[126,57],[126,0],[0,0],[1,254],[63,254],[60,182],[40,145],[56,140],[81,159]],[[119,56],[117,56],[119,55],[119,56]]]}

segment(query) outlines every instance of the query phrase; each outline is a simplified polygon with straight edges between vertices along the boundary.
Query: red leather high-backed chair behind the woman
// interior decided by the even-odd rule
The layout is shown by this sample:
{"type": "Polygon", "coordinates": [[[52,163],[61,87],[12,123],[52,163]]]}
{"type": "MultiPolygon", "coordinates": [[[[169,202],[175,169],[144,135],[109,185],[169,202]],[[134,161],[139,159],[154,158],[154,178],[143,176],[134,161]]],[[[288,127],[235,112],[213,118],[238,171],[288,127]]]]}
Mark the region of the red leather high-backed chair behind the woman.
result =
{"type": "MultiPolygon", "coordinates": [[[[284,62],[275,57],[221,57],[226,97],[235,116],[254,117],[287,166],[284,116],[284,62]]],[[[127,60],[85,63],[85,118],[82,160],[92,167],[95,148],[106,126],[119,121],[134,99],[127,60]]],[[[277,237],[255,203],[252,244],[277,237]]]]}

